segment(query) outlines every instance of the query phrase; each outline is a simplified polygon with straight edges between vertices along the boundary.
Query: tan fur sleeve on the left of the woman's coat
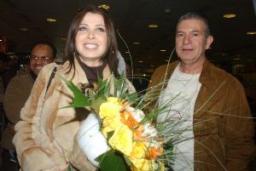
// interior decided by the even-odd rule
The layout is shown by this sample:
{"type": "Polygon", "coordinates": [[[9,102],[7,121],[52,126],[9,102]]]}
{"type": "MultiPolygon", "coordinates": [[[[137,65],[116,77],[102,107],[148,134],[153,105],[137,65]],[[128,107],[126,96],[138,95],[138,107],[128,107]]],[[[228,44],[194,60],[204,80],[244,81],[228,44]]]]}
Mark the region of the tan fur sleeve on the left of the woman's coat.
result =
{"type": "Polygon", "coordinates": [[[40,129],[40,115],[44,105],[45,87],[52,71],[51,66],[44,66],[40,71],[32,87],[32,93],[20,111],[21,121],[15,125],[16,134],[13,143],[20,166],[26,171],[49,169],[55,165],[46,151],[40,148],[35,140],[35,137],[42,131],[40,129]]]}

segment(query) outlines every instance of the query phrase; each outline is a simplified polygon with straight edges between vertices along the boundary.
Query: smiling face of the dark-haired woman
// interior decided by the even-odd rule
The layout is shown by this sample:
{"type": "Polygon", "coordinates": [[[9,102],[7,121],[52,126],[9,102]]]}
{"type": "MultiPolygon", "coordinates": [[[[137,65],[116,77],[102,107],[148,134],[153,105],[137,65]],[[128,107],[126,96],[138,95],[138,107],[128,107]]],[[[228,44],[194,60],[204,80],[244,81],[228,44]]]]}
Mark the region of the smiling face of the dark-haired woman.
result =
{"type": "Polygon", "coordinates": [[[80,60],[87,66],[101,66],[107,43],[107,31],[102,15],[85,14],[75,38],[80,60]]]}

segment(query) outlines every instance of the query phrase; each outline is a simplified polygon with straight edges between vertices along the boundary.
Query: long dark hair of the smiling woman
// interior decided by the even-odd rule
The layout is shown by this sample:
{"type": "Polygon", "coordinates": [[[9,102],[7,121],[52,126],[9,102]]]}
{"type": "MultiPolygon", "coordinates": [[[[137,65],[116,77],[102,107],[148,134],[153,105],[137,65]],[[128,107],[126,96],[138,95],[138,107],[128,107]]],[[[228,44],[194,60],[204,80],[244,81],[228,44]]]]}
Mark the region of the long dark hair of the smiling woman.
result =
{"type": "MultiPolygon", "coordinates": [[[[85,9],[80,10],[74,17],[71,26],[69,27],[68,35],[67,35],[67,43],[65,47],[65,56],[64,61],[69,61],[69,71],[71,71],[72,68],[75,68],[74,66],[74,57],[79,56],[79,53],[75,46],[75,37],[77,36],[77,33],[79,31],[79,25],[81,24],[82,20],[84,19],[85,14],[87,13],[93,13],[93,14],[101,14],[106,26],[107,31],[107,37],[108,37],[108,43],[107,43],[107,49],[105,54],[103,54],[103,58],[108,61],[108,66],[110,71],[113,71],[113,73],[117,74],[117,66],[118,66],[118,60],[117,60],[117,40],[115,37],[115,31],[113,27],[113,22],[109,18],[108,14],[106,14],[102,9],[99,9],[95,6],[88,6],[85,9]]],[[[68,72],[69,72],[68,71],[68,72]]]]}

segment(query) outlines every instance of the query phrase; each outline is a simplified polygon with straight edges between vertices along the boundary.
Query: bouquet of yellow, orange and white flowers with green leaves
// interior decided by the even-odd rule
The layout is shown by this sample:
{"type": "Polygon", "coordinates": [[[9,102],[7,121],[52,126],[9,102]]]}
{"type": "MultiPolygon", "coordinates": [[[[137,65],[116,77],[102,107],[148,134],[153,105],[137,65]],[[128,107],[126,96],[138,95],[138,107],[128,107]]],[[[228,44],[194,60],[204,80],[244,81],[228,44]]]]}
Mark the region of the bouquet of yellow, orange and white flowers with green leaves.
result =
{"type": "Polygon", "coordinates": [[[79,145],[96,167],[102,171],[153,171],[172,164],[173,134],[166,133],[166,123],[154,123],[167,105],[150,110],[148,94],[129,93],[124,75],[110,81],[99,79],[98,88],[83,93],[72,82],[62,80],[73,91],[69,107],[90,106],[93,111],[81,125],[79,145]],[[100,145],[91,142],[92,136],[100,145]]]}

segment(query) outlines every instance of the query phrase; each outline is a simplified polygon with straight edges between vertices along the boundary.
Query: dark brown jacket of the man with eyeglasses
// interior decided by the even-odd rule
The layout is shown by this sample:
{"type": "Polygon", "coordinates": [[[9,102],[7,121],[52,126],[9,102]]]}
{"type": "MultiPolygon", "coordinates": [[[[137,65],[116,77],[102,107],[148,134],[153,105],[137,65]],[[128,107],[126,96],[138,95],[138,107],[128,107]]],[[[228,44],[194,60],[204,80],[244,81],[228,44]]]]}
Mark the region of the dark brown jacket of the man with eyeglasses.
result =
{"type": "MultiPolygon", "coordinates": [[[[20,121],[20,110],[31,93],[33,83],[34,79],[28,71],[13,77],[9,82],[5,91],[3,108],[10,123],[15,124],[20,121]]],[[[4,149],[15,149],[12,143],[13,137],[14,133],[9,128],[5,128],[1,141],[4,149]]]]}

